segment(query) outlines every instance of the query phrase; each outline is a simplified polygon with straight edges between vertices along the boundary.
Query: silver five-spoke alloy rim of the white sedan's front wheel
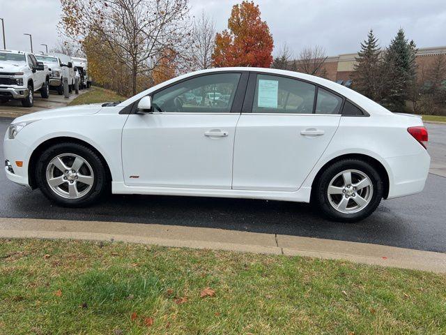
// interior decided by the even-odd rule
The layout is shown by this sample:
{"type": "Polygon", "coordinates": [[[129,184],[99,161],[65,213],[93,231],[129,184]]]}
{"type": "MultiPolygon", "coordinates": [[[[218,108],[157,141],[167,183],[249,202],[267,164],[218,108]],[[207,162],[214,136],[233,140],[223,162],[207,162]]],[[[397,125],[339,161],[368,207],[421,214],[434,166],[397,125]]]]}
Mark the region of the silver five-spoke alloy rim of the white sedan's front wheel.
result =
{"type": "Polygon", "coordinates": [[[46,169],[49,188],[62,198],[78,199],[93,187],[94,174],[89,162],[77,154],[61,154],[46,169]]]}

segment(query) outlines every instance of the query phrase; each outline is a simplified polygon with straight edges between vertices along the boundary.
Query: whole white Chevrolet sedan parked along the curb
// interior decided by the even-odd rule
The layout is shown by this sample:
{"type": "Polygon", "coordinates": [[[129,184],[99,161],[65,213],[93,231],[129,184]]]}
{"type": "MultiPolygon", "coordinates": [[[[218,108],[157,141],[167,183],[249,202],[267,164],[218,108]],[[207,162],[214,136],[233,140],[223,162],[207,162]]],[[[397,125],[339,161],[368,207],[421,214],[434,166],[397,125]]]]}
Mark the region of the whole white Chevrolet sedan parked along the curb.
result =
{"type": "Polygon", "coordinates": [[[176,77],[122,103],[19,117],[5,171],[64,206],[112,193],[313,202],[337,221],[421,192],[420,117],[339,84],[266,68],[176,77]]]}

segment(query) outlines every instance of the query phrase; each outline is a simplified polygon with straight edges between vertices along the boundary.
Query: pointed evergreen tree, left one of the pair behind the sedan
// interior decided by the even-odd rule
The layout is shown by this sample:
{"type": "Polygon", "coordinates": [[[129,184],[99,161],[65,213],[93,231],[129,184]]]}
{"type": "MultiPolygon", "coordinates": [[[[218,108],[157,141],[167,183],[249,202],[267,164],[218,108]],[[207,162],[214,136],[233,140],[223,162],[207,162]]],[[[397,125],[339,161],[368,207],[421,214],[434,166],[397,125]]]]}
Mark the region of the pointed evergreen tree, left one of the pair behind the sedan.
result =
{"type": "Polygon", "coordinates": [[[361,50],[357,53],[355,68],[352,73],[353,88],[371,98],[380,101],[383,92],[382,60],[378,38],[370,29],[367,40],[361,43],[361,50]]]}

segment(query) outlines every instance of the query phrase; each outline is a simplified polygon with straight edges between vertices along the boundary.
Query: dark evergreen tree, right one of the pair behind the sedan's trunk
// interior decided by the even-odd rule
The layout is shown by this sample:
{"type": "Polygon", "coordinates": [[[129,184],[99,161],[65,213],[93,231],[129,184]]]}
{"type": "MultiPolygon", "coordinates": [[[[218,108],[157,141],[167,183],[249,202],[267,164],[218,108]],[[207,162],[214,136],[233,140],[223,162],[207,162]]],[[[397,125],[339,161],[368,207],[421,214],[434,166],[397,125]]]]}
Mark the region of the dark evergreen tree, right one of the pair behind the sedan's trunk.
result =
{"type": "Polygon", "coordinates": [[[385,105],[391,110],[402,112],[405,109],[408,92],[416,75],[415,52],[415,43],[408,43],[403,29],[399,29],[385,52],[388,74],[385,105]]]}

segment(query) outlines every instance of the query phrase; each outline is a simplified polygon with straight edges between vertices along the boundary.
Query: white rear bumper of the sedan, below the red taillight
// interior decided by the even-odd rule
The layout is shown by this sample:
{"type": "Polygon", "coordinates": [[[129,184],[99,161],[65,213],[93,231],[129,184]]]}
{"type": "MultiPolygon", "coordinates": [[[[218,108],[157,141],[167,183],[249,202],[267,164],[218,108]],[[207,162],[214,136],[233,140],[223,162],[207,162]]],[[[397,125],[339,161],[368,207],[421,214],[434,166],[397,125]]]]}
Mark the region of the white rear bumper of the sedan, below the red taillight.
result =
{"type": "Polygon", "coordinates": [[[387,199],[423,191],[431,163],[431,157],[426,150],[423,149],[417,155],[386,158],[385,161],[392,171],[387,199]]]}

